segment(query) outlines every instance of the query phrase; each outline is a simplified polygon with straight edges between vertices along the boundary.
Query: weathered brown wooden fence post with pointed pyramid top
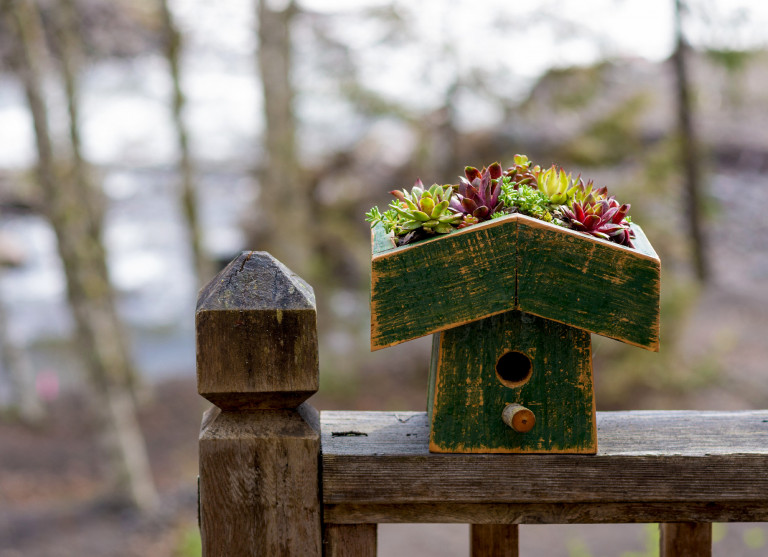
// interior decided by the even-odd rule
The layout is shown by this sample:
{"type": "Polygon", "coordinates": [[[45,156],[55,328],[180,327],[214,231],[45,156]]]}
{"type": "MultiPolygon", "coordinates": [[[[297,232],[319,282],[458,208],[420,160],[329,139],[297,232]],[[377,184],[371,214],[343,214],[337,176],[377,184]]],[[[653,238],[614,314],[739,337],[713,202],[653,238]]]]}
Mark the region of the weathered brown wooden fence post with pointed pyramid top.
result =
{"type": "Polygon", "coordinates": [[[244,252],[201,290],[196,335],[203,556],[320,557],[312,288],[244,252]]]}

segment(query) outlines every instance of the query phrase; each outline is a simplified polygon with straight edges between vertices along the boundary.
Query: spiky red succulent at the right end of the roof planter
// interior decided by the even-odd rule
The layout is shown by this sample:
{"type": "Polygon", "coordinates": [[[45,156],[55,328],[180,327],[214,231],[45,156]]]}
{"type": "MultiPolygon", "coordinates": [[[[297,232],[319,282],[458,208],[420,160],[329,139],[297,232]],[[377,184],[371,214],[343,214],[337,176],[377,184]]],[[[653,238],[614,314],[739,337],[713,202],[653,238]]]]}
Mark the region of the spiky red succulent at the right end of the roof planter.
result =
{"type": "Polygon", "coordinates": [[[598,199],[590,193],[583,201],[574,201],[570,207],[561,207],[560,211],[574,230],[633,248],[634,232],[627,217],[629,207],[628,204],[619,205],[613,197],[598,199]]]}

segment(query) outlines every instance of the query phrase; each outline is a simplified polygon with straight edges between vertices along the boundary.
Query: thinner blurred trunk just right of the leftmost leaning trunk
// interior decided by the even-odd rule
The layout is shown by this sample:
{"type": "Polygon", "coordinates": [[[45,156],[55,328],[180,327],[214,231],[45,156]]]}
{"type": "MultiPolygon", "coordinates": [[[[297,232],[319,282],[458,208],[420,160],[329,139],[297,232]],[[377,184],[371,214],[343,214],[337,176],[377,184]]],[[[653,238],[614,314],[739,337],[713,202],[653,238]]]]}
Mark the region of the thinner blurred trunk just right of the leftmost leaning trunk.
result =
{"type": "MultiPolygon", "coordinates": [[[[69,113],[69,139],[72,153],[72,175],[68,177],[71,182],[73,195],[77,196],[84,204],[82,211],[82,226],[84,233],[92,238],[90,249],[92,253],[89,265],[93,268],[94,277],[104,283],[104,289],[109,291],[109,271],[107,269],[107,255],[102,240],[102,223],[104,222],[105,203],[101,189],[92,179],[89,165],[85,161],[82,152],[82,140],[80,137],[80,109],[77,74],[82,64],[83,53],[80,37],[82,33],[78,28],[78,13],[74,0],[60,0],[56,10],[57,39],[59,43],[59,57],[61,61],[61,73],[64,81],[64,91],[67,97],[67,111],[69,113]]],[[[122,323],[117,315],[117,308],[110,302],[104,305],[104,311],[108,314],[110,328],[118,338],[125,338],[122,323]]],[[[121,359],[125,365],[115,369],[116,373],[124,373],[125,381],[131,387],[131,391],[137,400],[144,400],[149,395],[148,386],[143,384],[138,371],[133,366],[126,342],[118,341],[117,349],[122,351],[121,359]]]]}

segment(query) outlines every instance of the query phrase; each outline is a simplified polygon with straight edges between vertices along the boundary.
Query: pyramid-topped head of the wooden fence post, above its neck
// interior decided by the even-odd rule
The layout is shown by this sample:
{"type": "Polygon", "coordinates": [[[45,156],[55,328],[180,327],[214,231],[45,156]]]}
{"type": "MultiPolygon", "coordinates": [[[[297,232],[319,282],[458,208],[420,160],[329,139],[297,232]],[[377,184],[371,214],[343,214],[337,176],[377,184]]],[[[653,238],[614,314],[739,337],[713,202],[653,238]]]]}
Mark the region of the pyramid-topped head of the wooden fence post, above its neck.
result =
{"type": "Polygon", "coordinates": [[[243,252],[198,297],[198,392],[225,409],[297,407],[318,388],[316,322],[309,285],[243,252]]]}

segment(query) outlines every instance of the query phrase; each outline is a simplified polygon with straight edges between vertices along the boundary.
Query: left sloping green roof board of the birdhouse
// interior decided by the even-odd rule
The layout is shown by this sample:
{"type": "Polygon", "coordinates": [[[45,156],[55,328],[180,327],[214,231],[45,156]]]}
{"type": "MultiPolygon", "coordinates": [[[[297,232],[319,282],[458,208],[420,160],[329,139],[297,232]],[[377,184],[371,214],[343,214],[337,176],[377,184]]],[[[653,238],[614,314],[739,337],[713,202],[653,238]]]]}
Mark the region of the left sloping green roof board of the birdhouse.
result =
{"type": "Polygon", "coordinates": [[[506,217],[375,254],[371,349],[514,309],[516,236],[516,219],[506,217]]]}

